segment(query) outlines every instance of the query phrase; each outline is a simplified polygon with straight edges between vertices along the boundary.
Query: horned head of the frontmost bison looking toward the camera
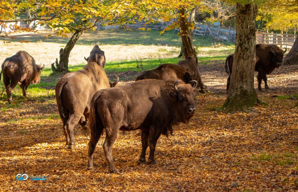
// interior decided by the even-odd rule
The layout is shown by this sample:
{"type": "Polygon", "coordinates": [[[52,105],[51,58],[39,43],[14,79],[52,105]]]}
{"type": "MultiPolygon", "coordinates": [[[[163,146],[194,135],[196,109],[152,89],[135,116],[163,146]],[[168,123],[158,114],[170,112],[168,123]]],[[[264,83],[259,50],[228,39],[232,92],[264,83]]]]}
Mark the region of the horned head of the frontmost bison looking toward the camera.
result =
{"type": "Polygon", "coordinates": [[[188,123],[190,118],[195,114],[195,88],[198,84],[197,81],[192,80],[191,84],[178,83],[179,80],[173,84],[174,90],[170,92],[170,96],[175,100],[175,106],[177,109],[177,122],[188,123]],[[178,112],[179,111],[179,112],[178,112]]]}

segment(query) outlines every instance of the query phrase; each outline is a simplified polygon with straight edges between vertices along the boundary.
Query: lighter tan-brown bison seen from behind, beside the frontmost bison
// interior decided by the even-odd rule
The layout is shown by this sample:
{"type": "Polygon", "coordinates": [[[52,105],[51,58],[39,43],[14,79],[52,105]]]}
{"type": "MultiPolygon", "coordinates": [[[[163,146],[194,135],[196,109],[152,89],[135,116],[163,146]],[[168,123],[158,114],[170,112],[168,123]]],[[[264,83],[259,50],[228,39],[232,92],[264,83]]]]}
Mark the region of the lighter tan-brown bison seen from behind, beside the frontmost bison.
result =
{"type": "MultiPolygon", "coordinates": [[[[112,86],[116,86],[119,78],[112,86]]],[[[64,75],[56,84],[55,94],[58,111],[63,122],[63,132],[69,149],[75,147],[74,126],[79,123],[84,135],[89,135],[86,123],[90,101],[94,93],[110,87],[103,68],[95,62],[83,69],[64,75]]]]}

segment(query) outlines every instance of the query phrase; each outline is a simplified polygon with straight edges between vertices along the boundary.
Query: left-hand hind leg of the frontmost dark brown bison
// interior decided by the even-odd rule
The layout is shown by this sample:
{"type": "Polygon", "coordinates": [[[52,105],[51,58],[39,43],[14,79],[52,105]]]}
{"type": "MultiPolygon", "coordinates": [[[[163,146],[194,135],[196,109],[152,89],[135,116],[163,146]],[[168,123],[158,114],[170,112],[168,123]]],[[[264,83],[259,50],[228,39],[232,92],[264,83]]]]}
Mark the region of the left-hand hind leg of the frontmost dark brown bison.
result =
{"type": "Polygon", "coordinates": [[[90,141],[88,143],[88,164],[87,164],[87,168],[86,168],[87,170],[94,170],[93,153],[94,153],[96,144],[100,138],[101,133],[102,133],[102,130],[99,131],[99,128],[96,128],[94,130],[94,135],[91,134],[90,141]]]}

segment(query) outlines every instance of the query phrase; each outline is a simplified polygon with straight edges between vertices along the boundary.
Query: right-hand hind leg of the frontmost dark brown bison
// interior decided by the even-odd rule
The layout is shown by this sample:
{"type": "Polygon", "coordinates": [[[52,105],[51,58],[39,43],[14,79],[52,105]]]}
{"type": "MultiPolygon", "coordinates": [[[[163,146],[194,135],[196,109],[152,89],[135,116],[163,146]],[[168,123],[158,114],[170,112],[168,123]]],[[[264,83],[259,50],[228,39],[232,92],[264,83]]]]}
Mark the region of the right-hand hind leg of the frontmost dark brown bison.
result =
{"type": "Polygon", "coordinates": [[[118,129],[114,129],[110,133],[108,133],[107,129],[108,128],[106,128],[106,139],[104,140],[104,143],[103,143],[104,155],[106,156],[106,159],[108,162],[109,171],[111,173],[119,173],[119,170],[114,165],[113,157],[112,157],[112,147],[117,138],[118,129]]]}

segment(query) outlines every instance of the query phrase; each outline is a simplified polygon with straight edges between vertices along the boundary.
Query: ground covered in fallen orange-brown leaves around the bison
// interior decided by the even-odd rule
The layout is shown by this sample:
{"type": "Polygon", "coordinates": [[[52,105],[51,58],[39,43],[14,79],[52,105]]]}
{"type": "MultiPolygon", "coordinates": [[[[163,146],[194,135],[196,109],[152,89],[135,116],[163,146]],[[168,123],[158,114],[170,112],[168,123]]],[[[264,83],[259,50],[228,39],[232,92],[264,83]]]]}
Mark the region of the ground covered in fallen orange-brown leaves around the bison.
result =
{"type": "MultiPolygon", "coordinates": [[[[34,99],[19,98],[15,105],[1,103],[0,190],[298,190],[298,109],[297,101],[288,99],[298,97],[297,68],[281,67],[268,76],[272,89],[257,92],[267,103],[255,107],[257,114],[226,114],[214,111],[226,98],[223,63],[200,66],[213,93],[197,96],[197,113],[189,125],[175,127],[169,138],[160,137],[157,165],[137,164],[138,131],[120,132],[112,153],[120,174],[108,173],[104,135],[95,149],[95,171],[84,169],[88,139],[80,135],[79,126],[75,149],[66,149],[53,87],[34,99]],[[46,180],[18,181],[19,173],[46,180]]],[[[129,82],[120,86],[125,83],[129,82]]]]}

